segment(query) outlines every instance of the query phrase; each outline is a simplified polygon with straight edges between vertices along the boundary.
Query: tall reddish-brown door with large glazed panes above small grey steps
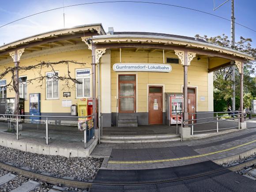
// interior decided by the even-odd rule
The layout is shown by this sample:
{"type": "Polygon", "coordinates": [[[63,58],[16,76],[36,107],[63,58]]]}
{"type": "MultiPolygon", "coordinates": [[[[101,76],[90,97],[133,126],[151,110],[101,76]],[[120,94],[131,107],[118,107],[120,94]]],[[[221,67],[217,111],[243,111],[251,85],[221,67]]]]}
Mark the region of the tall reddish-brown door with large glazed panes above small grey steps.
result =
{"type": "Polygon", "coordinates": [[[136,112],[136,76],[119,75],[118,78],[119,113],[136,112]]]}

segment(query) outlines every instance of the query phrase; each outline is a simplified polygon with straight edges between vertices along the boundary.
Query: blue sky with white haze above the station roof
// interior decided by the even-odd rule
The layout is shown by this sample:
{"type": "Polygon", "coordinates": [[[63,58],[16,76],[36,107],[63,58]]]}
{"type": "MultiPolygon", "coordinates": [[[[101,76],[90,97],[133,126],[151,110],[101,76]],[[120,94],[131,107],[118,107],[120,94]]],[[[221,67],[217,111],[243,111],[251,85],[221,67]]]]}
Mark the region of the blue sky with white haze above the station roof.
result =
{"type": "MultiPolygon", "coordinates": [[[[64,0],[64,5],[103,0],[64,0]]],[[[230,19],[231,2],[213,11],[213,0],[148,0],[174,4],[206,11],[230,19]]],[[[221,4],[225,0],[215,0],[221,4]]],[[[63,6],[63,0],[12,0],[1,1],[0,25],[47,9],[63,6]]],[[[236,22],[256,30],[256,1],[235,0],[236,22]]],[[[147,31],[179,34],[194,37],[195,34],[230,36],[230,22],[196,11],[153,4],[108,3],[65,8],[65,27],[102,23],[105,30],[113,26],[115,31],[147,31]]],[[[23,19],[0,28],[0,45],[30,35],[63,28],[63,9],[50,11],[23,19]]],[[[236,39],[240,36],[254,40],[256,32],[236,25],[236,39]]]]}

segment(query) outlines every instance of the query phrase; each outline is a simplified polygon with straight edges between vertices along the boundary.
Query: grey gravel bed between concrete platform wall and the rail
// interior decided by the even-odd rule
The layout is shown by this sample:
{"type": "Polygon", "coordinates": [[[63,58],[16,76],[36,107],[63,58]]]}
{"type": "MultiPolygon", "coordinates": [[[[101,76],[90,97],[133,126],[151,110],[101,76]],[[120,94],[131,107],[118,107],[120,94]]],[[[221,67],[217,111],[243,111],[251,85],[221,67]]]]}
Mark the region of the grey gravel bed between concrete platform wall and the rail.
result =
{"type": "Polygon", "coordinates": [[[73,177],[78,181],[88,181],[95,178],[103,158],[66,158],[0,146],[0,162],[9,162],[19,168],[26,167],[35,173],[50,173],[53,177],[73,177]]]}

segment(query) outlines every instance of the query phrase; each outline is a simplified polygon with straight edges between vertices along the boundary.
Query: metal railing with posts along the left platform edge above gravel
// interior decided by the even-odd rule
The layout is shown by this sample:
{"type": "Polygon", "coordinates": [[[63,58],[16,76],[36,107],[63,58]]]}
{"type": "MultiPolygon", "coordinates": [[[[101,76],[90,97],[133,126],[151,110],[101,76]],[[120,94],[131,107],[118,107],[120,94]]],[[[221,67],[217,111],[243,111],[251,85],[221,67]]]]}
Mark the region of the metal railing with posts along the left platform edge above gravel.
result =
{"type": "MultiPolygon", "coordinates": [[[[78,128],[81,129],[81,126],[83,126],[83,124],[86,124],[87,118],[88,117],[92,117],[92,119],[94,120],[94,115],[88,115],[88,116],[84,116],[84,117],[80,117],[80,116],[41,116],[41,115],[13,115],[13,114],[0,114],[0,116],[3,117],[7,117],[6,119],[8,119],[8,117],[13,117],[13,119],[16,119],[16,139],[19,140],[19,119],[21,119],[21,117],[43,117],[45,118],[45,122],[42,121],[42,123],[45,123],[45,133],[46,133],[46,144],[49,144],[49,134],[48,134],[48,118],[83,118],[85,119],[84,122],[78,123],[78,128]],[[20,117],[20,118],[19,118],[20,117]]],[[[3,120],[4,118],[1,117],[0,120],[3,120]]],[[[38,122],[41,122],[41,120],[38,120],[38,122]]],[[[86,148],[86,143],[87,143],[87,129],[86,129],[86,125],[85,125],[85,130],[84,130],[84,147],[86,148]]]]}

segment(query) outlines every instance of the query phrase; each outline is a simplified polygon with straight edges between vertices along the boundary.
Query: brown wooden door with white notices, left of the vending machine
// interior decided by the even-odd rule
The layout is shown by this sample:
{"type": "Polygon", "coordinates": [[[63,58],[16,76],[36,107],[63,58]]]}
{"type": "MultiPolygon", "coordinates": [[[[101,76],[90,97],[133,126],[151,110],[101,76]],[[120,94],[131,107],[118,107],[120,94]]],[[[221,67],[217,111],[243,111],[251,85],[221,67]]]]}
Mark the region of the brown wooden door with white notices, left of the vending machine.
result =
{"type": "Polygon", "coordinates": [[[148,102],[149,124],[162,124],[162,87],[150,87],[148,102]]]}

